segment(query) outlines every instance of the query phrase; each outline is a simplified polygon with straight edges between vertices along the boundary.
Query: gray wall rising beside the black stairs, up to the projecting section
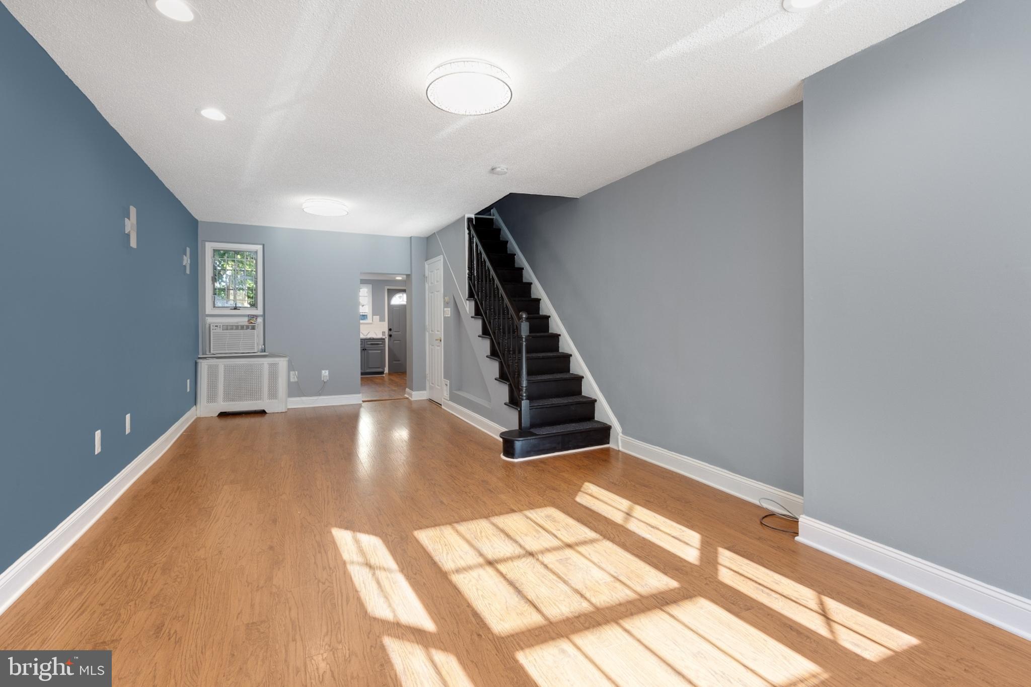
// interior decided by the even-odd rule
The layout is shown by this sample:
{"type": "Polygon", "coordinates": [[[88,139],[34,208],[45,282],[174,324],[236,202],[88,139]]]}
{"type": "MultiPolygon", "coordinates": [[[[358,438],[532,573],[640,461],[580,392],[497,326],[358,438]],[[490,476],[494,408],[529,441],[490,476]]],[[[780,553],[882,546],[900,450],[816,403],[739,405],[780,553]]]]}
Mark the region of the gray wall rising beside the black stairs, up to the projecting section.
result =
{"type": "Polygon", "coordinates": [[[801,118],[496,204],[624,434],[798,494],[801,118]]]}

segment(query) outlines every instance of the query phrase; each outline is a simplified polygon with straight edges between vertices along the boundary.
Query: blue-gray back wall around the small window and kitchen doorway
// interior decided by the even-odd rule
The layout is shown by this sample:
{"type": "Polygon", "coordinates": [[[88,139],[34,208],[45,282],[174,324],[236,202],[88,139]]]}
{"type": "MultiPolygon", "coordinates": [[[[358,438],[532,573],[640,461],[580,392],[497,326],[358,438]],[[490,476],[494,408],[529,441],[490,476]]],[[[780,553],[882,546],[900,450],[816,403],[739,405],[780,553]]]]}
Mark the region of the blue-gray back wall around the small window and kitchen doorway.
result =
{"type": "MultiPolygon", "coordinates": [[[[265,347],[290,356],[298,379],[290,383],[291,396],[362,392],[358,321],[361,273],[409,273],[411,239],[201,222],[200,242],[203,246],[206,241],[265,247],[265,347]],[[324,369],[329,370],[325,388],[324,369]]],[[[199,283],[204,279],[203,265],[197,271],[199,283]]],[[[198,303],[202,298],[200,295],[198,303]]],[[[200,318],[204,318],[203,307],[200,318]]]]}

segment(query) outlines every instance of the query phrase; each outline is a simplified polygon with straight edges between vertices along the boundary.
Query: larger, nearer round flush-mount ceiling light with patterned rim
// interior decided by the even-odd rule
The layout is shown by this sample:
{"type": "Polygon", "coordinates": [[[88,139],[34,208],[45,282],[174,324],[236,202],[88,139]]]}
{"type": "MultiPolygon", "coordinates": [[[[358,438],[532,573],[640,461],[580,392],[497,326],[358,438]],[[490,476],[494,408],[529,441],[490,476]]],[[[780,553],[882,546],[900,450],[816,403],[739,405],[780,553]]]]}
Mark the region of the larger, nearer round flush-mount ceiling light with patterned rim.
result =
{"type": "Polygon", "coordinates": [[[511,79],[490,62],[452,60],[430,72],[426,97],[453,114],[489,114],[511,101],[511,79]]]}

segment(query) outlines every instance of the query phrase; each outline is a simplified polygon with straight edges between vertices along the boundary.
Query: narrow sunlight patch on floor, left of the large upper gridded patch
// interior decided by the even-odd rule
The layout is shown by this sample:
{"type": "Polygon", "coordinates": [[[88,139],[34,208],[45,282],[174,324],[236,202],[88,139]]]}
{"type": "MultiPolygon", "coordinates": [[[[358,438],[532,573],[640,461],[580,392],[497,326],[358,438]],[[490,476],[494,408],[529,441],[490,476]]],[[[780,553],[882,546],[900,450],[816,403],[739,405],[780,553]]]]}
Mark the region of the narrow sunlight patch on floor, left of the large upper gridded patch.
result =
{"type": "Polygon", "coordinates": [[[436,626],[378,536],[333,528],[333,538],[373,618],[435,632],[436,626]]]}

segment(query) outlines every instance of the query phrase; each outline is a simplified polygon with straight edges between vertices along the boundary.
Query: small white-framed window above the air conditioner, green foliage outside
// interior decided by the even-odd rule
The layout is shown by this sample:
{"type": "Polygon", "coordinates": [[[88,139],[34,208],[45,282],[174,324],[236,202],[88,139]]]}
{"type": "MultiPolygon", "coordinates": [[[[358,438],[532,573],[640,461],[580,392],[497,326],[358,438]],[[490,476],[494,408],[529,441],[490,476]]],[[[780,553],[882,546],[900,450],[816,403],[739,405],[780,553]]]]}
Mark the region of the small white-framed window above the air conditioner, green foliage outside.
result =
{"type": "Polygon", "coordinates": [[[206,314],[261,315],[263,251],[251,243],[205,243],[206,314]]]}

